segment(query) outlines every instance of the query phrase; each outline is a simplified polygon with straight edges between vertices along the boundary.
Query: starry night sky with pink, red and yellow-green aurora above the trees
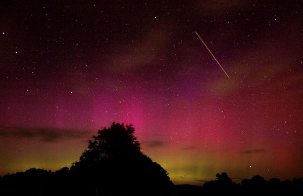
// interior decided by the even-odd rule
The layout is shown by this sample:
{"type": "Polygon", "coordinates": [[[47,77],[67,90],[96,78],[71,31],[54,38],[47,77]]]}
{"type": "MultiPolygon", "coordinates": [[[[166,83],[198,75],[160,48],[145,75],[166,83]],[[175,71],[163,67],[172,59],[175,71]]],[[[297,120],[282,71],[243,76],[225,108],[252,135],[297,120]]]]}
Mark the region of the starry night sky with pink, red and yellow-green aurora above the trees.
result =
{"type": "Polygon", "coordinates": [[[2,1],[0,175],[71,166],[98,129],[124,122],[176,184],[302,177],[302,10],[2,1]]]}

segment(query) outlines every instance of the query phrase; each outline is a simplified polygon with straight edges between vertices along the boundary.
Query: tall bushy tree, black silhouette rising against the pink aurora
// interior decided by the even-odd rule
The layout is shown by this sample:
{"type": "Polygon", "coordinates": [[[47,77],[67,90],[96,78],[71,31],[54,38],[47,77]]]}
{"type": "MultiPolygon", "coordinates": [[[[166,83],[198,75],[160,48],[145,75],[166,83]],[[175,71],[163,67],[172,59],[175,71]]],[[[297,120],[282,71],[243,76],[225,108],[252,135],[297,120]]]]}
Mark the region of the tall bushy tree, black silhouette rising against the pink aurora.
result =
{"type": "Polygon", "coordinates": [[[71,167],[79,182],[103,193],[117,192],[116,187],[122,188],[123,194],[136,194],[138,187],[149,193],[168,192],[173,183],[167,172],[140,151],[134,131],[132,125],[119,123],[98,130],[71,167]]]}

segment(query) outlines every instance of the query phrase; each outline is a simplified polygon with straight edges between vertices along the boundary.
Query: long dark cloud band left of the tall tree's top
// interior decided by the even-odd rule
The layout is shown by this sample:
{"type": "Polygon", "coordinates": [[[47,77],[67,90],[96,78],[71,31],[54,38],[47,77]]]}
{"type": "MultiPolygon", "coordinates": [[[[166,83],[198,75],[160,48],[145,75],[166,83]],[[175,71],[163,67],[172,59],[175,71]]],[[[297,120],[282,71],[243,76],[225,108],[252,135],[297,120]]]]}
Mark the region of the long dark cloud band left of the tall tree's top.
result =
{"type": "Polygon", "coordinates": [[[0,138],[37,138],[42,142],[88,138],[91,135],[87,130],[59,129],[59,128],[28,128],[0,126],[0,138]]]}

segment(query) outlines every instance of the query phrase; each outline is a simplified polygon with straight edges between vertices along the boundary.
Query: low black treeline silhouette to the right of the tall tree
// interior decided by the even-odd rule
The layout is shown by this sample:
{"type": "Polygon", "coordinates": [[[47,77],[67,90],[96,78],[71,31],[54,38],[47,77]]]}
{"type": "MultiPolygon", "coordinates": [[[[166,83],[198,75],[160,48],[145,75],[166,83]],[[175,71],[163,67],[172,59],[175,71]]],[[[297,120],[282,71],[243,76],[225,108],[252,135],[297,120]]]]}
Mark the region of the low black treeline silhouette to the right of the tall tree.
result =
{"type": "Polygon", "coordinates": [[[203,186],[175,186],[175,195],[302,195],[302,193],[302,178],[281,182],[277,178],[266,181],[262,176],[256,175],[237,184],[226,173],[217,174],[215,180],[205,182],[203,186]]]}

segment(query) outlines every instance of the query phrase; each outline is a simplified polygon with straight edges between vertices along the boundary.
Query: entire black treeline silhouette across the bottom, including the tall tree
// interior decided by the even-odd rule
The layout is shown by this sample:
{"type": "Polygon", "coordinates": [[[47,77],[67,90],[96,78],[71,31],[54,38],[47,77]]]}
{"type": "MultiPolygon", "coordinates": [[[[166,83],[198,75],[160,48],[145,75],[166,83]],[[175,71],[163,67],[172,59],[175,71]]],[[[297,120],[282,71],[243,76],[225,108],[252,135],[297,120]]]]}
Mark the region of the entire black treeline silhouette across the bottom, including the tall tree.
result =
{"type": "Polygon", "coordinates": [[[0,177],[0,195],[301,195],[302,178],[266,181],[262,176],[240,184],[226,174],[203,186],[176,185],[167,172],[140,151],[131,125],[113,123],[98,130],[71,168],[56,172],[29,169],[0,177]]]}

